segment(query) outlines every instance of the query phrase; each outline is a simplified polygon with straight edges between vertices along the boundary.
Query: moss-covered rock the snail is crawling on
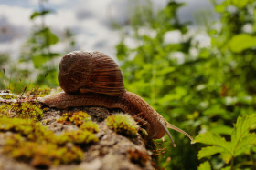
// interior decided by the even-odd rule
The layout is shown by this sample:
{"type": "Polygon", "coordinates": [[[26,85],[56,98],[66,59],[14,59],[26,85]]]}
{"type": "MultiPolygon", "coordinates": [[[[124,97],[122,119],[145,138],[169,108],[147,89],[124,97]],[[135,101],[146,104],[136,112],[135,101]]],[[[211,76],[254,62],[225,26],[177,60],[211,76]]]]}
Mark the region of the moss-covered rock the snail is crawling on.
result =
{"type": "Polygon", "coordinates": [[[147,151],[141,145],[143,141],[133,117],[113,115],[111,124],[106,125],[102,119],[95,118],[95,115],[107,117],[112,114],[105,108],[64,111],[39,106],[38,113],[42,115],[37,116],[33,114],[37,111],[37,103],[24,104],[0,104],[0,169],[7,167],[1,165],[3,157],[9,161],[8,167],[13,165],[11,169],[19,169],[17,164],[27,165],[27,169],[90,169],[94,161],[98,161],[101,169],[153,169],[151,158],[145,156],[147,151]],[[48,124],[45,124],[46,120],[48,124]],[[109,129],[111,126],[117,134],[109,129]],[[119,134],[133,139],[127,140],[119,134]],[[134,147],[139,150],[131,152],[134,147]]]}

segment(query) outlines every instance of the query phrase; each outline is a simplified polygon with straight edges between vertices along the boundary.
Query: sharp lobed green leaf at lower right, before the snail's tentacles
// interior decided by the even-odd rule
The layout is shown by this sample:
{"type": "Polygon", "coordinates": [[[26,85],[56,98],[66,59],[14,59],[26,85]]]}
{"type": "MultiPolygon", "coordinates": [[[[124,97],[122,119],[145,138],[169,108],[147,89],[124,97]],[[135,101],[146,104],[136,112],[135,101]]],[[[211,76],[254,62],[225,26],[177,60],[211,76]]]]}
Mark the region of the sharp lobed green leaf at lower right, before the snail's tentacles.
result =
{"type": "MultiPolygon", "coordinates": [[[[250,131],[252,127],[255,130],[256,114],[239,117],[231,135],[226,136],[228,140],[211,132],[197,135],[196,141],[198,143],[210,145],[201,148],[198,152],[198,158],[210,158],[212,161],[216,159],[214,155],[219,154],[219,157],[225,162],[223,166],[228,165],[225,169],[255,168],[253,161],[248,160],[255,155],[256,149],[256,134],[250,131]]],[[[208,163],[202,163],[201,166],[208,166],[208,163]]]]}

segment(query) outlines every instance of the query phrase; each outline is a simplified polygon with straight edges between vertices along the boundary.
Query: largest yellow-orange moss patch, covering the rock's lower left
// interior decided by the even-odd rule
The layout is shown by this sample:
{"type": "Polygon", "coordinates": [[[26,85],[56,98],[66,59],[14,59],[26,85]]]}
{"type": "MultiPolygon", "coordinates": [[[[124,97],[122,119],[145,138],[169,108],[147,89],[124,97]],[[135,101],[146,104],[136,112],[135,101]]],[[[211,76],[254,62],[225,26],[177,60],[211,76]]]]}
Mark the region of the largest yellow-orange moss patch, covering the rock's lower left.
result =
{"type": "Polygon", "coordinates": [[[78,145],[99,140],[91,132],[81,130],[57,136],[40,123],[6,116],[0,117],[0,131],[15,133],[7,135],[1,152],[41,168],[80,162],[83,153],[78,145]]]}

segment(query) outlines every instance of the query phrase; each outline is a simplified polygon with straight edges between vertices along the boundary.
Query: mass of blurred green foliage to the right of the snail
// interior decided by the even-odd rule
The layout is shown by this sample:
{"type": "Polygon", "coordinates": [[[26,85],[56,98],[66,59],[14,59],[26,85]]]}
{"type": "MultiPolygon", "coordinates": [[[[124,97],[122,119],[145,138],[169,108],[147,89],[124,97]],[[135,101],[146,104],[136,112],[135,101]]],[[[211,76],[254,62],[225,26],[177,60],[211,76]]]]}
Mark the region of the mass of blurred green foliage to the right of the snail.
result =
{"type": "MultiPolygon", "coordinates": [[[[256,3],[212,3],[219,20],[199,33],[208,36],[211,45],[200,45],[202,42],[188,31],[187,24],[180,23],[177,10],[184,4],[169,1],[157,14],[152,6],[138,7],[130,26],[123,29],[116,49],[129,91],[143,96],[168,122],[188,134],[196,136],[208,131],[229,141],[237,117],[255,113],[256,3]],[[177,42],[171,39],[173,34],[180,35],[177,42]]],[[[169,142],[161,145],[167,147],[167,152],[161,155],[162,167],[197,169],[201,162],[197,152],[203,145],[190,145],[184,135],[173,135],[177,148],[172,148],[169,142]]],[[[249,150],[232,164],[247,160],[251,164],[243,167],[255,168],[255,145],[249,150]]],[[[226,165],[221,156],[208,157],[210,161],[199,169],[220,169],[226,165]]],[[[234,168],[230,164],[226,168],[234,168]]]]}

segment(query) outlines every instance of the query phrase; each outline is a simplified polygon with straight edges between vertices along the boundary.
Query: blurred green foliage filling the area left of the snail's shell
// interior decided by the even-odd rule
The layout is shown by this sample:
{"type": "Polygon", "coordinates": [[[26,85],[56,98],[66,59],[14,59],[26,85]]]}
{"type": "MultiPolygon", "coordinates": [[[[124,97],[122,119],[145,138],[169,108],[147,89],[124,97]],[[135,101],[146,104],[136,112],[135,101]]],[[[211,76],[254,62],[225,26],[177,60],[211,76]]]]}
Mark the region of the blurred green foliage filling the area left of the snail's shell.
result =
{"type": "Polygon", "coordinates": [[[62,30],[64,34],[62,33],[62,37],[59,38],[59,35],[46,25],[46,17],[54,13],[52,9],[45,7],[47,1],[38,0],[38,10],[30,15],[33,28],[27,42],[21,48],[19,61],[17,63],[9,62],[7,66],[4,66],[3,62],[6,59],[5,57],[2,59],[1,55],[0,66],[5,68],[5,74],[0,74],[4,80],[0,81],[1,89],[10,89],[15,93],[21,93],[25,88],[28,91],[37,86],[53,87],[58,85],[58,58],[72,51],[75,41],[74,35],[69,29],[62,30]],[[60,43],[66,45],[65,50],[54,51],[54,46],[60,43]]]}

